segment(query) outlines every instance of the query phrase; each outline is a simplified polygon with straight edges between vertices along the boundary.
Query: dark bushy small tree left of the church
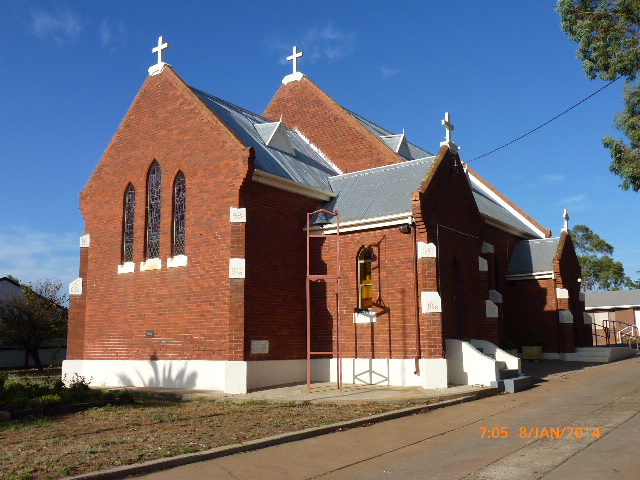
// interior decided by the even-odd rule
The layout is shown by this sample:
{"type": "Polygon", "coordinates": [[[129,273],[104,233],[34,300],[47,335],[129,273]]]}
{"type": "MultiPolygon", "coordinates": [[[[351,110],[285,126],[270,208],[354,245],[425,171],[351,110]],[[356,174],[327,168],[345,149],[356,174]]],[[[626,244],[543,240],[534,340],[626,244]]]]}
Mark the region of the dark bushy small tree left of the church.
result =
{"type": "Polygon", "coordinates": [[[18,345],[43,369],[38,350],[48,340],[66,336],[67,296],[51,280],[22,285],[22,291],[0,299],[0,343],[18,345]]]}

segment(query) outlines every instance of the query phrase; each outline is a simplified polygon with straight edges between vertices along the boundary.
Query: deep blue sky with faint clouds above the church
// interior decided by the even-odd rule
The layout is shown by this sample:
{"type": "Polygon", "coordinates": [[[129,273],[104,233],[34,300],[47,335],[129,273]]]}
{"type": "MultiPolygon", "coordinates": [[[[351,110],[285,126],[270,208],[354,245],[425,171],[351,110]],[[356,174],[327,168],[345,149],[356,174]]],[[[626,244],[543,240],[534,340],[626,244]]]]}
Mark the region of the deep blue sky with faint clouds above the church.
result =
{"type": "MultiPolygon", "coordinates": [[[[78,274],[78,195],[155,63],[262,113],[291,66],[339,104],[435,152],[451,112],[469,161],[604,85],[587,80],[555,2],[7,1],[0,11],[0,276],[78,274]]],[[[609,173],[601,139],[622,83],[471,166],[558,234],[562,210],[637,278],[640,193],[609,173]]]]}

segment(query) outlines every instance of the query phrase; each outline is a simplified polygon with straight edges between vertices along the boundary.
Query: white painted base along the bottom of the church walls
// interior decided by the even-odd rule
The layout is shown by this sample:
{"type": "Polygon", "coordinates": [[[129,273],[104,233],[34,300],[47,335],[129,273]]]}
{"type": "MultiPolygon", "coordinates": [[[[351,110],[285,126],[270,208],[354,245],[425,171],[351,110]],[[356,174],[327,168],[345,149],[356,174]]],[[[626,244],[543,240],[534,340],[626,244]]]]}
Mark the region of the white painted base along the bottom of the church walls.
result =
{"type": "MultiPolygon", "coordinates": [[[[337,360],[315,359],[311,364],[314,382],[335,382],[337,360]]],[[[343,359],[344,383],[367,385],[447,387],[444,359],[421,359],[415,375],[414,359],[343,359]]],[[[221,390],[239,394],[249,390],[306,382],[307,361],[264,360],[65,360],[62,374],[75,373],[91,385],[109,387],[162,387],[221,390]]]]}

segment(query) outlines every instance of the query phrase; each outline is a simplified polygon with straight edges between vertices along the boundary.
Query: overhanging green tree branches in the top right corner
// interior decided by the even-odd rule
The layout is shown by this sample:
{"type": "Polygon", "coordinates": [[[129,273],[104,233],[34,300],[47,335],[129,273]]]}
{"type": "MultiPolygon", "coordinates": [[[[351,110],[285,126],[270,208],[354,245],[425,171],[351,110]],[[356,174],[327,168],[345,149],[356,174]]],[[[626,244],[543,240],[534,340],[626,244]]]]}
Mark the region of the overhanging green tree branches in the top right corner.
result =
{"type": "Polygon", "coordinates": [[[640,190],[640,0],[558,0],[561,26],[578,42],[578,58],[587,78],[626,79],[625,108],[614,126],[629,140],[605,137],[610,170],[624,190],[640,190]]]}

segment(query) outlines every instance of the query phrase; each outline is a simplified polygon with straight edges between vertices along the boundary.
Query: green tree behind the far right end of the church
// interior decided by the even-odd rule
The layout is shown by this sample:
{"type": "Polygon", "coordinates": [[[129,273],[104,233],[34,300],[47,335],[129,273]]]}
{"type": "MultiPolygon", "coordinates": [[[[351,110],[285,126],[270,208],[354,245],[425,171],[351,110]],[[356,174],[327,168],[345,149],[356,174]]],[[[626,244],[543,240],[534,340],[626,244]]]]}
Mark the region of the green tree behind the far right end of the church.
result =
{"type": "Polygon", "coordinates": [[[613,246],[586,225],[576,225],[571,239],[582,269],[584,291],[621,290],[633,288],[633,282],[624,273],[622,263],[613,259],[613,246]]]}

